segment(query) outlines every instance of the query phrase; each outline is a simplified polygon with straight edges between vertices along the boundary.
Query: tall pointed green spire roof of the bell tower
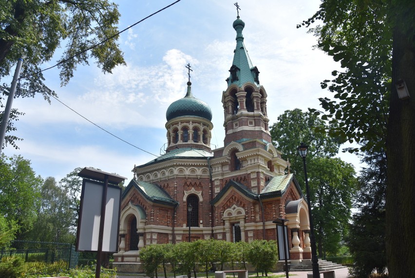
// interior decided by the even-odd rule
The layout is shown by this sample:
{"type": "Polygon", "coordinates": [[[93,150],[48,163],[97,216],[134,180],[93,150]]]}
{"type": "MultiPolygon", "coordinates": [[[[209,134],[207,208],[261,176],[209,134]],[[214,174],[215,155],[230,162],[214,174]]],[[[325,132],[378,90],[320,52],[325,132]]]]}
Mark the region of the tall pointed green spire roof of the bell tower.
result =
{"type": "Polygon", "coordinates": [[[237,67],[238,79],[232,80],[231,73],[229,78],[226,79],[226,81],[228,83],[228,86],[230,86],[231,84],[236,84],[239,87],[242,87],[242,85],[246,82],[252,82],[259,87],[259,82],[256,82],[254,78],[254,71],[257,70],[257,68],[252,65],[252,62],[248,56],[248,51],[246,50],[244,44],[244,36],[242,36],[242,30],[244,29],[244,27],[245,22],[240,20],[238,16],[237,20],[233,22],[233,28],[236,31],[236,48],[234,50],[233,62],[231,67],[231,70],[232,68],[235,68],[235,66],[237,67]]]}

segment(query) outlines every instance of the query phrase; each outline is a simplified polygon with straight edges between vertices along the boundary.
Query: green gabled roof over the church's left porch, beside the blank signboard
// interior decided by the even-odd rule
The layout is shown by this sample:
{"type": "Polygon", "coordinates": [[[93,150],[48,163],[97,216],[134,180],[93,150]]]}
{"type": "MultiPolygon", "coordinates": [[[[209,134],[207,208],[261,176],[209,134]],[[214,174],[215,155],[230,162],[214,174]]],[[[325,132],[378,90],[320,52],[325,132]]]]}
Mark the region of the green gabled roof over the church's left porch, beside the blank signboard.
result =
{"type": "Polygon", "coordinates": [[[137,189],[144,198],[148,199],[151,202],[170,206],[178,204],[178,202],[172,199],[170,195],[159,185],[145,181],[138,181],[136,179],[132,179],[128,186],[124,189],[122,198],[127,195],[132,187],[137,189]]]}

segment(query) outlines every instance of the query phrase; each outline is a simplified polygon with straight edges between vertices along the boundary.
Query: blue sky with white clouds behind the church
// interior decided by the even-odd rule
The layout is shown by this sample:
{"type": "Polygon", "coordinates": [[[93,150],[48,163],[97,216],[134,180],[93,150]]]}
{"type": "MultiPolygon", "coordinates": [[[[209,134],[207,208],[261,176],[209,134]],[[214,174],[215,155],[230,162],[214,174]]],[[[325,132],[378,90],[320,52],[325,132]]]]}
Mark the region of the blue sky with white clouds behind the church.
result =
{"type": "MultiPolygon", "coordinates": [[[[117,0],[122,30],[173,0],[117,0]]],[[[154,155],[166,139],[166,110],[186,94],[190,63],[192,92],[213,113],[211,144],[222,147],[222,92],[232,64],[236,32],[235,0],[181,0],[165,11],[135,25],[118,40],[126,66],[103,74],[91,62],[79,66],[65,87],[57,69],[44,72],[45,83],[59,99],[79,114],[116,136],[154,155]]],[[[338,65],[320,50],[316,38],[296,24],[317,11],[319,0],[239,0],[245,21],[245,46],[268,94],[270,124],[287,109],[319,108],[318,98],[330,93],[320,87],[338,65]]],[[[53,65],[58,56],[44,68],[53,65]]],[[[30,159],[43,178],[57,180],[75,167],[94,167],[132,179],[132,168],[154,156],[112,137],[82,119],[57,100],[41,96],[15,99],[14,108],[26,113],[16,123],[23,138],[19,150],[6,147],[8,156],[30,159]]],[[[358,158],[341,155],[358,169],[358,158]]]]}

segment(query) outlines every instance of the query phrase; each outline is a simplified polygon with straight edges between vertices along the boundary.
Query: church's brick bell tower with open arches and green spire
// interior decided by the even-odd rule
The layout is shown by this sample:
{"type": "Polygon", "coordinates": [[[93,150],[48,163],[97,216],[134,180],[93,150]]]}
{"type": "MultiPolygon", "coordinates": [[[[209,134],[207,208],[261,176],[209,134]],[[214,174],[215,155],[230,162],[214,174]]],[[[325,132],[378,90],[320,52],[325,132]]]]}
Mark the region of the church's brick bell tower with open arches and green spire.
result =
{"type": "Polygon", "coordinates": [[[264,87],[260,85],[260,72],[249,59],[242,35],[244,27],[245,22],[238,16],[233,22],[236,48],[229,69],[230,74],[226,79],[228,87],[222,95],[225,146],[232,141],[242,142],[249,139],[271,143],[266,113],[267,95],[264,87]]]}

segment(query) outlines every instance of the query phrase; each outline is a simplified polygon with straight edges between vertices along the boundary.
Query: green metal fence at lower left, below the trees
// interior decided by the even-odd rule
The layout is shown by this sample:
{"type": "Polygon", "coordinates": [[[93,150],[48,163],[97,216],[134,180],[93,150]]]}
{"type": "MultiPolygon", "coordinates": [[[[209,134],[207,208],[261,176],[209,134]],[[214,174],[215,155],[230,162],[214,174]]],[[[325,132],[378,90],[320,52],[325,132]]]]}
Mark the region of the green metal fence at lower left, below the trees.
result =
{"type": "Polygon", "coordinates": [[[63,260],[70,269],[78,264],[79,252],[75,251],[75,245],[69,243],[15,240],[9,250],[1,250],[0,259],[3,256],[21,257],[24,261],[49,263],[63,260]]]}

